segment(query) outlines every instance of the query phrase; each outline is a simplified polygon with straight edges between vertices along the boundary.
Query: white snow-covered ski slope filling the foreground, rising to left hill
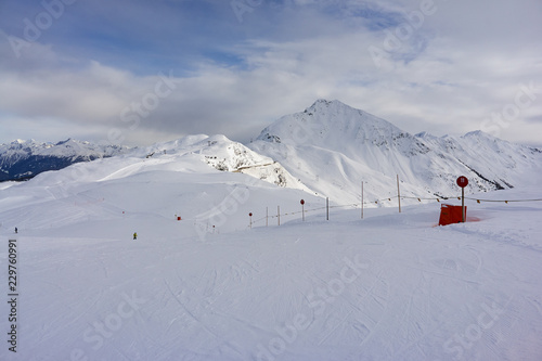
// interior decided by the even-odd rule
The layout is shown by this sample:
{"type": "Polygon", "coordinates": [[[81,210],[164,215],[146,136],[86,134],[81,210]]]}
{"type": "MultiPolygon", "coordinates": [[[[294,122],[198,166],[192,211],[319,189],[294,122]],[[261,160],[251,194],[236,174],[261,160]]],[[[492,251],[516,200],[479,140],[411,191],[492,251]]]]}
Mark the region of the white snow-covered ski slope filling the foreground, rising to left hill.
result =
{"type": "MultiPolygon", "coordinates": [[[[302,222],[321,197],[215,169],[209,141],[0,184],[0,360],[542,359],[542,202],[468,201],[478,221],[448,227],[437,202],[302,222]],[[248,228],[276,206],[280,227],[248,228]]],[[[474,197],[542,198],[540,159],[518,176],[474,197]]]]}

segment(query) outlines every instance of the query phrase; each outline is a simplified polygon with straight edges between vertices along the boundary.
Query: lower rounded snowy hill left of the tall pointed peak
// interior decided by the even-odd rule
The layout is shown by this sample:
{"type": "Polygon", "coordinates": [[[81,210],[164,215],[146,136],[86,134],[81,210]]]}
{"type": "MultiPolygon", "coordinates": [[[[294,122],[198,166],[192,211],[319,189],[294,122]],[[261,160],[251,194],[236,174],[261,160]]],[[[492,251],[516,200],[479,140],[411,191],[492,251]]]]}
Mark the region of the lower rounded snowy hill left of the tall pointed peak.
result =
{"type": "MultiPolygon", "coordinates": [[[[292,211],[298,210],[298,201],[288,208],[289,199],[305,197],[308,205],[321,201],[307,192],[281,165],[241,143],[224,136],[188,136],[42,172],[29,182],[5,182],[0,186],[0,220],[20,229],[54,224],[67,234],[72,224],[88,219],[119,222],[136,217],[138,228],[180,216],[190,224],[185,234],[205,237],[207,227],[217,232],[246,228],[246,216],[227,222],[222,214],[243,208],[248,215],[261,207],[253,194],[264,194],[292,211]],[[24,212],[16,210],[22,190],[33,190],[37,196],[31,202],[39,199],[24,212]]],[[[261,208],[256,215],[261,219],[261,208]]]]}

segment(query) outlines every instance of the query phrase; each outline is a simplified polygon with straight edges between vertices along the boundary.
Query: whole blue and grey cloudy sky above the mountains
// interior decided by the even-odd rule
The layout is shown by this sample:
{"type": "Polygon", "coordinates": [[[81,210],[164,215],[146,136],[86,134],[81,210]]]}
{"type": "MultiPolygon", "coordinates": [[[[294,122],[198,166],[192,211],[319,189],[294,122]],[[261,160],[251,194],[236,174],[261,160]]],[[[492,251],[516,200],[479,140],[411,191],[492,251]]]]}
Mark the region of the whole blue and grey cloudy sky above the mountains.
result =
{"type": "Polygon", "coordinates": [[[0,0],[0,143],[242,142],[317,99],[542,144],[542,1],[0,0]]]}

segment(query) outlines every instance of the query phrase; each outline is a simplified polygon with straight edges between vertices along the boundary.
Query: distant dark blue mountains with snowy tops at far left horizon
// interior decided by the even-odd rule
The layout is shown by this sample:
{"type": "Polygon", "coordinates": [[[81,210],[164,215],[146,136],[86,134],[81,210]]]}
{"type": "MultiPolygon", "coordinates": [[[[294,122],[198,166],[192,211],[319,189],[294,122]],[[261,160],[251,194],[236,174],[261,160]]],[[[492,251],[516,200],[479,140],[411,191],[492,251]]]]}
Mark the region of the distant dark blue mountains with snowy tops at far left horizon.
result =
{"type": "Polygon", "coordinates": [[[26,180],[37,175],[65,168],[74,163],[90,162],[122,154],[117,145],[96,145],[73,139],[59,143],[16,140],[0,144],[0,182],[26,180]]]}

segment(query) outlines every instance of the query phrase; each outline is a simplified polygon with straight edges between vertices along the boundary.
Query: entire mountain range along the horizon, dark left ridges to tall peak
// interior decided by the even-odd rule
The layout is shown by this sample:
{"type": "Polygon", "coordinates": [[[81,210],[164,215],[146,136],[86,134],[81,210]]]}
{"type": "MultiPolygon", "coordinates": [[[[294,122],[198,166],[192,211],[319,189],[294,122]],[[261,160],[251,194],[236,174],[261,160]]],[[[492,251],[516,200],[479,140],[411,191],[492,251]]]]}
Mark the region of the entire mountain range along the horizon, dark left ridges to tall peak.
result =
{"type": "Polygon", "coordinates": [[[469,179],[469,192],[509,189],[542,151],[481,131],[457,138],[410,134],[339,101],[318,100],[280,118],[246,145],[224,136],[189,136],[134,150],[75,140],[15,141],[0,145],[0,181],[30,179],[98,158],[166,153],[348,204],[359,202],[362,181],[367,199],[396,195],[397,176],[401,193],[417,197],[456,194],[459,176],[469,179]]]}

